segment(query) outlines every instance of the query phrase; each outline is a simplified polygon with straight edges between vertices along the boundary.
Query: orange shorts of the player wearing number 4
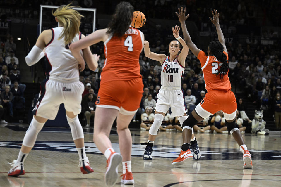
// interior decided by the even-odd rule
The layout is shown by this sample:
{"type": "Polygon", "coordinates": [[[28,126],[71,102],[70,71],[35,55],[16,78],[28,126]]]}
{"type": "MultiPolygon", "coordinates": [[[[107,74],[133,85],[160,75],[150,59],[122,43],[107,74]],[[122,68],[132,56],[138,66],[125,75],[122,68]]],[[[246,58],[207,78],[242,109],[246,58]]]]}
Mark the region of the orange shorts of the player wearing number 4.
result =
{"type": "Polygon", "coordinates": [[[108,81],[100,85],[96,105],[102,108],[114,108],[121,114],[131,115],[138,110],[142,96],[141,78],[108,81]]]}

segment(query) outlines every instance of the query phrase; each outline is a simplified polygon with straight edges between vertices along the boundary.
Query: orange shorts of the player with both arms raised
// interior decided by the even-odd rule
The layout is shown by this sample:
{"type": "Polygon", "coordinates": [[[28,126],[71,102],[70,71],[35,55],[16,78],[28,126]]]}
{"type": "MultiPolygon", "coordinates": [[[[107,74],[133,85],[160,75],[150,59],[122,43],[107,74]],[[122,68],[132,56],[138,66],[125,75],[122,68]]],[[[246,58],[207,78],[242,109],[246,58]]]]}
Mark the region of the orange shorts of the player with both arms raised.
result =
{"type": "Polygon", "coordinates": [[[206,93],[205,98],[195,108],[195,112],[204,119],[220,110],[222,110],[226,120],[235,118],[236,98],[231,90],[211,90],[206,93]]]}

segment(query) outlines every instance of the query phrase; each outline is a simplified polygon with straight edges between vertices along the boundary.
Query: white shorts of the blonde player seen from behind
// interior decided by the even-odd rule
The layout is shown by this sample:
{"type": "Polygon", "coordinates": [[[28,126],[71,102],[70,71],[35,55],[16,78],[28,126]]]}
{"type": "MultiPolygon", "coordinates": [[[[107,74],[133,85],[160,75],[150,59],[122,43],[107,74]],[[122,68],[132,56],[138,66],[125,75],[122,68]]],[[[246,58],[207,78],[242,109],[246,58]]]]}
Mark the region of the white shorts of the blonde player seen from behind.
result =
{"type": "Polygon", "coordinates": [[[82,93],[84,85],[79,79],[73,81],[57,81],[45,79],[41,83],[41,91],[37,99],[33,114],[54,120],[59,111],[59,105],[64,103],[64,108],[74,115],[81,112],[82,93]]]}

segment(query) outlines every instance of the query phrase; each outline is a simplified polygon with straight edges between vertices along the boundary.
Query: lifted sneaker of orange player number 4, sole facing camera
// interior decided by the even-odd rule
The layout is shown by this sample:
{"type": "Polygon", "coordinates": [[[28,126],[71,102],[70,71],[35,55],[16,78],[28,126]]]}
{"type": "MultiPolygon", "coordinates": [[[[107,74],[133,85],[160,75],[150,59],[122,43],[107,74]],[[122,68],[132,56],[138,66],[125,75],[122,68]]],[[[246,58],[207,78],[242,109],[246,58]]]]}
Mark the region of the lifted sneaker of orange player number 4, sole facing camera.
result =
{"type": "Polygon", "coordinates": [[[107,186],[113,186],[118,180],[118,165],[122,162],[122,156],[119,153],[112,152],[106,162],[107,170],[104,181],[107,186]]]}

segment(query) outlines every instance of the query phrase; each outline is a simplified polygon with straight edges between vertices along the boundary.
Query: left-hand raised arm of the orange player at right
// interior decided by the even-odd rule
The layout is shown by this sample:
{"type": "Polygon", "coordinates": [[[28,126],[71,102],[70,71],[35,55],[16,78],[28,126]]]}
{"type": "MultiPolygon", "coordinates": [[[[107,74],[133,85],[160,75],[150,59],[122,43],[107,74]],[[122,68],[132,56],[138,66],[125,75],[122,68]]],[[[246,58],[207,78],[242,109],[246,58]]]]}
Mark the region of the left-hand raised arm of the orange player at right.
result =
{"type": "Polygon", "coordinates": [[[183,11],[183,8],[181,7],[181,10],[179,9],[179,14],[177,12],[176,12],[176,14],[179,17],[179,22],[181,23],[182,32],[184,34],[184,41],[185,41],[186,45],[189,47],[189,49],[192,51],[192,53],[197,57],[198,53],[201,50],[198,49],[195,44],[193,44],[191,37],[187,31],[185,20],[189,17],[189,14],[187,16],[185,16],[185,11],[186,11],[186,8],[184,8],[184,11],[183,11]]]}

